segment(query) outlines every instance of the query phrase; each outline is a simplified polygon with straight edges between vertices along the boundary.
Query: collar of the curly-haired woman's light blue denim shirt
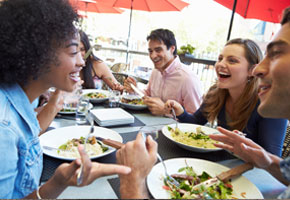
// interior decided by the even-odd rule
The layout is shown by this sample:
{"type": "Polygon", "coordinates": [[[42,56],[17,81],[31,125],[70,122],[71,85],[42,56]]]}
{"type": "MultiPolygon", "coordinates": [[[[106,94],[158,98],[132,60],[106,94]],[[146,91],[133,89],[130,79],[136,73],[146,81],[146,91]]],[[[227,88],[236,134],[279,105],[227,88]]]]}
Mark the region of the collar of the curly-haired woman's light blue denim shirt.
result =
{"type": "Polygon", "coordinates": [[[33,135],[38,135],[41,129],[36,117],[37,113],[34,111],[33,105],[30,103],[26,93],[20,85],[6,85],[2,87],[2,89],[7,95],[8,100],[14,106],[15,110],[17,110],[17,112],[28,124],[33,135]]]}

